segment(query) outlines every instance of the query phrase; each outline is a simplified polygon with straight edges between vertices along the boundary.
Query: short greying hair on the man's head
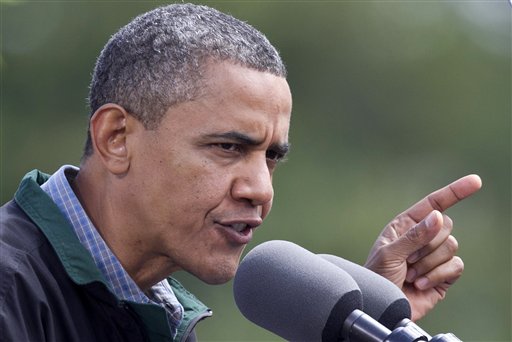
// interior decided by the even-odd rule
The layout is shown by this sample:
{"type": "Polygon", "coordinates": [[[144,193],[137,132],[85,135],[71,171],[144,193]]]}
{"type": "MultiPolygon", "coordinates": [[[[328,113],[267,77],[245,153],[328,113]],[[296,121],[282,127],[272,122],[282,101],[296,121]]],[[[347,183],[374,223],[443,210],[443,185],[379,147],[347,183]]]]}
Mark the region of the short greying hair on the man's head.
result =
{"type": "MultiPolygon", "coordinates": [[[[210,60],[286,77],[279,53],[249,24],[207,6],[173,4],[136,17],[107,42],[90,85],[90,115],[116,103],[155,129],[170,106],[198,95],[210,60]]],[[[92,154],[90,140],[88,132],[84,156],[92,154]]]]}

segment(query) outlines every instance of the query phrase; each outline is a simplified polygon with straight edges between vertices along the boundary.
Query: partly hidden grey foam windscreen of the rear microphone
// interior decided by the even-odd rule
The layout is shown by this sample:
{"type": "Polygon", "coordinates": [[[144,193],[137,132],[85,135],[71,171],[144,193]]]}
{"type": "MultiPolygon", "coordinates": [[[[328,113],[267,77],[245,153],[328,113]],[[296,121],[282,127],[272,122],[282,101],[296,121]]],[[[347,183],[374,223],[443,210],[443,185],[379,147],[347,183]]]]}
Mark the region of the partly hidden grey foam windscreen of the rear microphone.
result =
{"type": "Polygon", "coordinates": [[[404,318],[411,318],[411,306],[398,286],[381,275],[343,258],[320,254],[325,260],[346,271],[361,289],[363,311],[393,330],[404,318]]]}

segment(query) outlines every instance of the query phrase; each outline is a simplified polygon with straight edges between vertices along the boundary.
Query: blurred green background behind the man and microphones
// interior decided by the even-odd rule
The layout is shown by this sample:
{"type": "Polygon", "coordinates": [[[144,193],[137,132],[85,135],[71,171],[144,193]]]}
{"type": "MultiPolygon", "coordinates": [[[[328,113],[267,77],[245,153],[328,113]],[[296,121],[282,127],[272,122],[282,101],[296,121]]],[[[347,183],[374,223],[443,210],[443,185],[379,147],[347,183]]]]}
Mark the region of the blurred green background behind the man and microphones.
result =
{"type": "MultiPolygon", "coordinates": [[[[382,227],[468,173],[450,209],[466,269],[420,325],[464,341],[511,336],[511,6],[507,1],[204,1],[267,34],[294,95],[289,161],[256,244],[294,241],[364,263],[382,227]]],[[[1,200],[29,170],[78,164],[103,44],[158,1],[2,1],[1,200]]],[[[203,341],[275,341],[231,283],[177,278],[214,317],[203,341]]]]}

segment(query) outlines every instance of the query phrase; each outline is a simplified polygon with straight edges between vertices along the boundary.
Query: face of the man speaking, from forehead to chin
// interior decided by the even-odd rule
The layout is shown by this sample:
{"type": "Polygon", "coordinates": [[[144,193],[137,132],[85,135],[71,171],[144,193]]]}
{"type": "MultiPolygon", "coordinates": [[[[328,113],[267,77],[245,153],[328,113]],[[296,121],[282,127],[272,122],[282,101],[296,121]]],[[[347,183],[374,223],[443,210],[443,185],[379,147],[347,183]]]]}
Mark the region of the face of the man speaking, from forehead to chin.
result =
{"type": "Polygon", "coordinates": [[[172,106],[136,141],[130,166],[146,250],[215,284],[234,276],[272,206],[272,173],[288,146],[284,78],[211,64],[202,95],[172,106]]]}

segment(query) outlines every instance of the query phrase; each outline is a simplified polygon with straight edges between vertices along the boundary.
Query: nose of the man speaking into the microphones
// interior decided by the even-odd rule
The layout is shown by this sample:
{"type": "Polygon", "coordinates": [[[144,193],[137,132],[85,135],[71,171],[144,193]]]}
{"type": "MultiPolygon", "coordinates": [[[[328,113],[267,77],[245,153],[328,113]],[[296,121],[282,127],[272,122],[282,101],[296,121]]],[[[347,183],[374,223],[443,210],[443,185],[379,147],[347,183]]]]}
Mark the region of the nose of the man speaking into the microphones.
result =
{"type": "Polygon", "coordinates": [[[248,201],[253,206],[271,203],[274,197],[272,173],[266,158],[244,164],[238,170],[231,188],[231,196],[237,201],[248,201]]]}

